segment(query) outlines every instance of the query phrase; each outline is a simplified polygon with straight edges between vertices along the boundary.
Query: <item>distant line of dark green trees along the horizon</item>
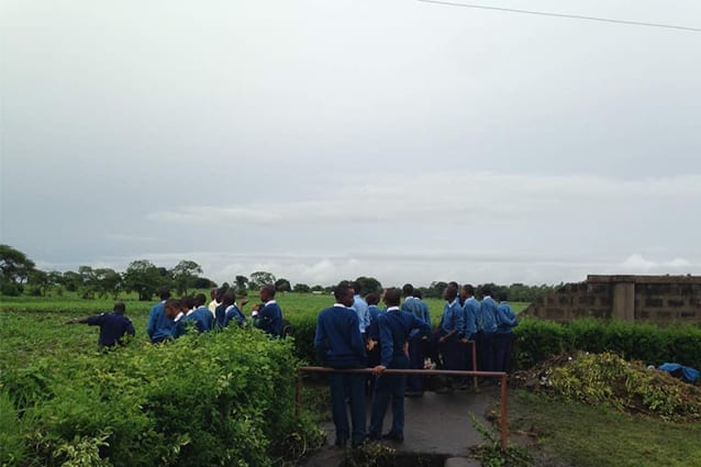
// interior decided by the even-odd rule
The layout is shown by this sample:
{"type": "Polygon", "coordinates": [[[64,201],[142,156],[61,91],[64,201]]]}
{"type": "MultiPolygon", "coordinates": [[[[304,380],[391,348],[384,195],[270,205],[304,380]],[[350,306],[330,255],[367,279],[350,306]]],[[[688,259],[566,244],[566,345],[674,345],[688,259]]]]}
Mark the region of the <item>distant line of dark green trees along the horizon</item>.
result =
{"type": "MultiPolygon", "coordinates": [[[[274,283],[277,291],[298,293],[331,293],[331,286],[292,283],[285,278],[276,278],[267,271],[255,271],[251,276],[237,275],[229,282],[219,286],[213,280],[202,276],[202,267],[196,262],[182,259],[175,267],[168,269],[156,266],[147,259],[130,263],[126,270],[120,273],[112,268],[92,268],[80,266],[78,270],[44,271],[24,253],[9,245],[0,245],[0,294],[46,296],[48,292],[62,294],[64,291],[78,292],[85,299],[112,297],[114,300],[122,292],[135,292],[140,300],[153,300],[158,290],[167,287],[180,296],[187,296],[189,290],[222,287],[233,289],[237,294],[245,296],[248,291],[259,290],[260,287],[274,283]]],[[[360,288],[361,296],[380,292],[382,283],[374,277],[358,277],[354,280],[360,288]]],[[[401,286],[401,285],[399,285],[401,286]]],[[[561,283],[560,283],[561,286],[561,283]]],[[[434,281],[427,287],[416,287],[424,298],[443,298],[447,282],[434,281]]],[[[557,286],[559,287],[559,286],[557,286]]],[[[490,288],[492,293],[504,291],[511,301],[533,302],[539,297],[557,289],[556,286],[526,286],[512,283],[500,286],[482,283],[476,286],[476,297],[481,298],[482,289],[490,288]]]]}

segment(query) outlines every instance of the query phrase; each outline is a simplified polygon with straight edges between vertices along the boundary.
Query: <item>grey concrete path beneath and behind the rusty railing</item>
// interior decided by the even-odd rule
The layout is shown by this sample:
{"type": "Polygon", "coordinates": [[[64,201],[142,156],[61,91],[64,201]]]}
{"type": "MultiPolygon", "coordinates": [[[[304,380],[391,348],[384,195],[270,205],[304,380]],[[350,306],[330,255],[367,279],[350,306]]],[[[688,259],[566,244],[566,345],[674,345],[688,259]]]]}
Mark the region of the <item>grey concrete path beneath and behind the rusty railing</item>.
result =
{"type": "MultiPolygon", "coordinates": [[[[499,400],[499,389],[482,388],[479,393],[472,391],[454,391],[449,393],[424,392],[420,398],[404,398],[405,427],[404,443],[382,442],[400,453],[437,454],[446,457],[466,457],[470,446],[482,444],[477,430],[472,426],[470,413],[486,426],[485,413],[489,405],[499,400]]],[[[368,400],[368,412],[369,412],[368,400]]],[[[383,432],[391,425],[391,408],[385,415],[383,432]]],[[[368,423],[369,423],[368,413],[368,423]]],[[[344,451],[333,446],[335,438],[333,422],[324,425],[327,444],[304,467],[336,467],[344,458],[344,451]]],[[[474,462],[455,465],[476,465],[474,462]]]]}

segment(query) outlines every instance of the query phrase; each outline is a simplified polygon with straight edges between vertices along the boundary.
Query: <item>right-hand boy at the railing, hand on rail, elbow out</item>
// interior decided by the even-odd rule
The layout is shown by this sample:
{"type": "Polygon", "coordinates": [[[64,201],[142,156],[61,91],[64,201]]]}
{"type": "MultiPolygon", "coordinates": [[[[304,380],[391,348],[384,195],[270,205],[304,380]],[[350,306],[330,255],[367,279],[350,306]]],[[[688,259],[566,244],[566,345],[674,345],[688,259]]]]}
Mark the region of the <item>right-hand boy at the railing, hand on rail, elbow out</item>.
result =
{"type": "Polygon", "coordinates": [[[379,440],[381,436],[398,443],[404,441],[404,390],[407,388],[407,376],[382,374],[388,368],[409,368],[409,357],[405,354],[404,345],[413,330],[418,330],[423,335],[431,333],[431,325],[412,313],[399,309],[400,297],[399,289],[387,289],[385,291],[387,312],[378,318],[382,362],[372,369],[372,373],[379,378],[375,386],[370,427],[368,430],[370,440],[379,440]],[[392,427],[387,434],[381,435],[385,412],[390,400],[392,401],[392,427]]]}

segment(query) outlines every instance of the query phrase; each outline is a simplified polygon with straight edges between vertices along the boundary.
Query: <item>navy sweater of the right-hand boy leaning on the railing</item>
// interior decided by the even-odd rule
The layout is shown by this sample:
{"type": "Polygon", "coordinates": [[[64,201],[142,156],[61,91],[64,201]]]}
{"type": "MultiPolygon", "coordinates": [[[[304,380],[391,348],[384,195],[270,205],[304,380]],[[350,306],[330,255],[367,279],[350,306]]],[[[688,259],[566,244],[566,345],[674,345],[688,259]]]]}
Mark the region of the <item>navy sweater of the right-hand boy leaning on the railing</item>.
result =
{"type": "Polygon", "coordinates": [[[423,335],[431,334],[431,325],[420,320],[412,313],[400,311],[399,307],[390,307],[387,312],[378,318],[380,326],[380,343],[382,366],[389,368],[397,357],[407,357],[404,344],[409,341],[409,334],[418,331],[423,335]]]}

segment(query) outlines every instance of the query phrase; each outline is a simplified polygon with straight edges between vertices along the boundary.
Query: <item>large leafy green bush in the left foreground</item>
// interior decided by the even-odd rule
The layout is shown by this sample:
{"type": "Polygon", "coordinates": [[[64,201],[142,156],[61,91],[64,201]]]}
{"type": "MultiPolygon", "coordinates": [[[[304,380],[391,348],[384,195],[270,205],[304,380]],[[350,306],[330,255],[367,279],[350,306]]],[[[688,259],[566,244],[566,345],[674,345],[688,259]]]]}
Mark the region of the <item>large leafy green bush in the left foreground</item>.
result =
{"type": "Polygon", "coordinates": [[[279,465],[279,446],[320,437],[294,418],[298,366],[292,341],[232,327],[11,367],[0,401],[22,413],[32,452],[3,464],[279,465]]]}

